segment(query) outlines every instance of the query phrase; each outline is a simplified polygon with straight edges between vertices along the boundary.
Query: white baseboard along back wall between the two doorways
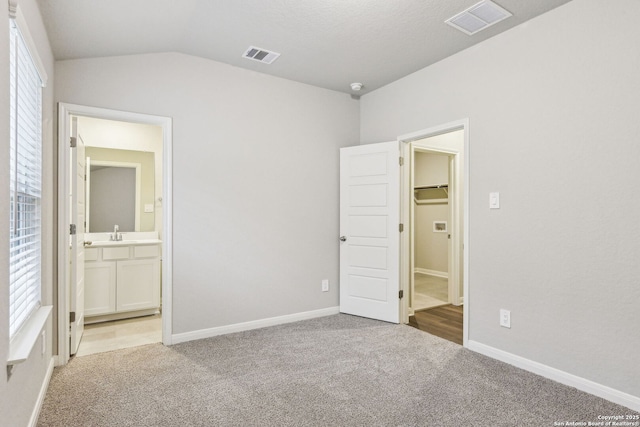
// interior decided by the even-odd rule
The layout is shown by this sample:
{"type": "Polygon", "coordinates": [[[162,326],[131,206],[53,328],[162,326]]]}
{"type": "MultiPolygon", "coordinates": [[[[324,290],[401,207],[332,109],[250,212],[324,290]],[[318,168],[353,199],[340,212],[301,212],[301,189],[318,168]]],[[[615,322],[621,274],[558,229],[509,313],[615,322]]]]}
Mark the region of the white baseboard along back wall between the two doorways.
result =
{"type": "Polygon", "coordinates": [[[232,334],[234,332],[250,331],[252,329],[266,328],[268,326],[283,325],[285,323],[298,322],[300,320],[314,319],[316,317],[331,316],[340,313],[340,307],[329,307],[320,310],[304,311],[302,313],[287,314],[286,316],[270,317],[268,319],[253,320],[251,322],[235,323],[233,325],[219,326],[216,328],[200,329],[171,336],[172,344],[186,341],[211,338],[218,335],[232,334]]]}

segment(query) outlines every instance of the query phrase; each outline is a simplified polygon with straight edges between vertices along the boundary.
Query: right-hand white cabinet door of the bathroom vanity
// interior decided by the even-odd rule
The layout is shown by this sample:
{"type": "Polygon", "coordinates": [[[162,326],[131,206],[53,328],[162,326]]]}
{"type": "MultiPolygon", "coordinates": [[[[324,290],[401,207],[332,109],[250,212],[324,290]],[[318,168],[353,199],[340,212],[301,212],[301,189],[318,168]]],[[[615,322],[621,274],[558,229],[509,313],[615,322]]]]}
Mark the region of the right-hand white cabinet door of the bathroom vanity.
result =
{"type": "Polygon", "coordinates": [[[160,305],[160,260],[118,261],[116,310],[132,311],[160,305]]]}

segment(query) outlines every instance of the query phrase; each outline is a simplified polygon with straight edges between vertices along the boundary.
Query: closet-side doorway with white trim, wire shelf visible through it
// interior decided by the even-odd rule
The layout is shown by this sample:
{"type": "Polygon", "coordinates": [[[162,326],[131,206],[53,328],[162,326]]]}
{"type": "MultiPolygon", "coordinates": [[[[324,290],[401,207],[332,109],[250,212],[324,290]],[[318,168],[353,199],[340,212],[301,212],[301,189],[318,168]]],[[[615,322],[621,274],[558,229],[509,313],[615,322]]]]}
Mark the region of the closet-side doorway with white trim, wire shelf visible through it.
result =
{"type": "Polygon", "coordinates": [[[404,323],[416,326],[425,318],[423,313],[451,311],[463,343],[468,330],[464,304],[468,288],[467,129],[468,122],[463,120],[399,138],[405,164],[401,277],[409,297],[404,299],[404,323]]]}

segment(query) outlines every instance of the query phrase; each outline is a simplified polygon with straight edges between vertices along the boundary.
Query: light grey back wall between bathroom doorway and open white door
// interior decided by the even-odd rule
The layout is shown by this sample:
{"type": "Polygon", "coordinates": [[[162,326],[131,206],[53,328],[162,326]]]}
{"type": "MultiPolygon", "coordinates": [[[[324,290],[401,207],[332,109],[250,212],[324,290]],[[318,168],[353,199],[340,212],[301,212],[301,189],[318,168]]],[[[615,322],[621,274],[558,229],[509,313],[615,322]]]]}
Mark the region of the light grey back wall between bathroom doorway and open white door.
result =
{"type": "Polygon", "coordinates": [[[338,305],[349,95],[167,53],[58,62],[56,99],[173,118],[174,333],[338,305]]]}

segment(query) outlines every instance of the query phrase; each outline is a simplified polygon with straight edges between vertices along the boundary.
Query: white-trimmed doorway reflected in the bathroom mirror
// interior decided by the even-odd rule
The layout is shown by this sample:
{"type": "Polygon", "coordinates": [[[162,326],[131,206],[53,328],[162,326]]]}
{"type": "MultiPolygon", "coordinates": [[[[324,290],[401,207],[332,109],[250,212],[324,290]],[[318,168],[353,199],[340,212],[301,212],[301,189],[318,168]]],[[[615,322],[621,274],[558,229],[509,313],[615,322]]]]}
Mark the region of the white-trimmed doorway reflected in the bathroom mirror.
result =
{"type": "Polygon", "coordinates": [[[87,231],[140,231],[139,163],[87,158],[87,231]]]}

